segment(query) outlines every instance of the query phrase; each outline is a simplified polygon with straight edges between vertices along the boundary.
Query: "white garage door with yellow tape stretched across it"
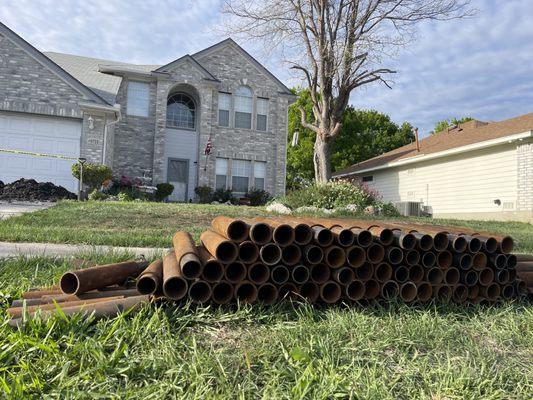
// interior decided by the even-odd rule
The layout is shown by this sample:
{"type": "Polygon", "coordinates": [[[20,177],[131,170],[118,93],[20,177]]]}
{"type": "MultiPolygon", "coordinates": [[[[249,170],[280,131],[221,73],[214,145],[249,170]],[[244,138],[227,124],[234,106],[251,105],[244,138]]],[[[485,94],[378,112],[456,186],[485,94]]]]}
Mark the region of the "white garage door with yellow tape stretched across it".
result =
{"type": "MultiPolygon", "coordinates": [[[[0,112],[2,149],[79,157],[80,137],[81,121],[0,112]]],[[[74,162],[0,152],[0,180],[9,183],[32,178],[76,193],[78,183],[70,169],[74,162]]]]}

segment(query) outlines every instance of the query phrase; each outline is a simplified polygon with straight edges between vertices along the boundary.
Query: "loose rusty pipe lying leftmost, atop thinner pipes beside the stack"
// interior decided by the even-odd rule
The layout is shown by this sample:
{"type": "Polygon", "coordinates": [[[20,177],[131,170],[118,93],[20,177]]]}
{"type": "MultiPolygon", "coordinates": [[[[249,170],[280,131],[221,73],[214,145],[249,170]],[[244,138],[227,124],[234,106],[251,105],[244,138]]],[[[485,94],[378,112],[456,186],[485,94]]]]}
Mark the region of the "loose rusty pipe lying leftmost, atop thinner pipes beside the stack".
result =
{"type": "Polygon", "coordinates": [[[125,261],[68,271],[61,277],[59,285],[65,294],[82,294],[93,289],[122,284],[130,277],[136,278],[147,265],[147,261],[125,261]]]}

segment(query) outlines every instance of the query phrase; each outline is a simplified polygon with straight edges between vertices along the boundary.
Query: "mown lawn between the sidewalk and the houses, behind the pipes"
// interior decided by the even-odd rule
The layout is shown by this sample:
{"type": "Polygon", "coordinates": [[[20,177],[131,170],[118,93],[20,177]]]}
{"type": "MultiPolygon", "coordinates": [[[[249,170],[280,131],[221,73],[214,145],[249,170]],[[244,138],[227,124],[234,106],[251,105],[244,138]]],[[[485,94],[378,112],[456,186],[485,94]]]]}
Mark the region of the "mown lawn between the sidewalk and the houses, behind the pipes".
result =
{"type": "MultiPolygon", "coordinates": [[[[47,210],[0,221],[0,241],[167,247],[176,230],[187,230],[198,238],[217,215],[252,217],[267,213],[262,207],[61,202],[47,210]]],[[[518,251],[533,253],[531,224],[422,218],[413,220],[462,225],[511,235],[517,241],[518,251]]]]}

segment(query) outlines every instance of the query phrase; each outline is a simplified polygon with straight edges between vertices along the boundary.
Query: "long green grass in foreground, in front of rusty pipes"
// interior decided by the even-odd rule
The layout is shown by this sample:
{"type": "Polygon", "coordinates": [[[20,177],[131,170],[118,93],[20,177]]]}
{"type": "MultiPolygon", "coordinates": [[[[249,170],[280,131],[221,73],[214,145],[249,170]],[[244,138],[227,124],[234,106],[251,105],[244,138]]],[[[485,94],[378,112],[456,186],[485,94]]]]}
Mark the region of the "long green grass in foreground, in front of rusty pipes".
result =
{"type": "MultiPolygon", "coordinates": [[[[86,256],[97,262],[127,255],[86,256]]],[[[0,397],[530,399],[533,307],[146,306],[6,325],[61,260],[0,260],[0,397]],[[2,395],[3,393],[3,395],[2,395]]]]}

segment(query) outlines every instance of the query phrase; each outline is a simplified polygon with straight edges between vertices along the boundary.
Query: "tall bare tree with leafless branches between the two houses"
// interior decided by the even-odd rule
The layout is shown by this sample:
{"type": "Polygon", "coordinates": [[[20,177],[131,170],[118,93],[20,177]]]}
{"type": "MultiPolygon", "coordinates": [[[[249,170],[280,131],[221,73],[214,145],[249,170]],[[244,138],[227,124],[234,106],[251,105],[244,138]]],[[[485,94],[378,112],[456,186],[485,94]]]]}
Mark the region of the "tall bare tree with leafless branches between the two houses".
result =
{"type": "Polygon", "coordinates": [[[330,156],[350,94],[372,82],[390,87],[386,59],[409,43],[416,25],[472,13],[469,0],[225,0],[231,32],[281,46],[309,88],[317,182],[331,178],[330,156]]]}

